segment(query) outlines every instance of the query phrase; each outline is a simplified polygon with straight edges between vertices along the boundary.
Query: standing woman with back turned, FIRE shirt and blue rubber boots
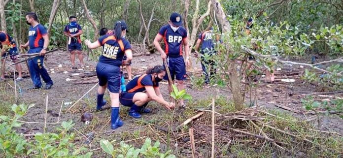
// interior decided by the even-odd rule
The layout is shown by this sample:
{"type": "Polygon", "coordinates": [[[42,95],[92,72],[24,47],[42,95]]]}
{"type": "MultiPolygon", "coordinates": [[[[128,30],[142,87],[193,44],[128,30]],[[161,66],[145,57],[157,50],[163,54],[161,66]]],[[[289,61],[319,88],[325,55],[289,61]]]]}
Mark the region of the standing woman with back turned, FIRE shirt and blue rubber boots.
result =
{"type": "Polygon", "coordinates": [[[102,110],[106,101],[103,100],[106,87],[111,98],[111,128],[116,129],[123,126],[119,118],[119,90],[120,90],[120,66],[124,54],[127,55],[127,62],[132,60],[130,42],[123,38],[127,32],[127,25],[124,21],[117,21],[114,25],[114,35],[103,35],[96,42],[85,41],[89,49],[103,47],[103,53],[97,64],[97,76],[99,79],[97,110],[102,110]]]}

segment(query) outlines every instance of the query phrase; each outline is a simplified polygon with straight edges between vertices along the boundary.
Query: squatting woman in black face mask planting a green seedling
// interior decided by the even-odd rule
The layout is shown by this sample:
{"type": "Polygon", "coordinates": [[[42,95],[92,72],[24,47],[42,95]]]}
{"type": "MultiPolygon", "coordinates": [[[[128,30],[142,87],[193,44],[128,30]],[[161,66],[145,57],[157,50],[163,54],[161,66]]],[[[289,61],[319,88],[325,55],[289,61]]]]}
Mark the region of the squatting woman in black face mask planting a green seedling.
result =
{"type": "Polygon", "coordinates": [[[131,107],[129,116],[140,118],[140,113],[149,113],[146,108],[149,101],[154,100],[164,105],[168,110],[174,108],[174,103],[167,102],[163,98],[159,82],[166,75],[166,68],[162,65],[154,66],[146,71],[146,74],[136,76],[126,85],[126,92],[121,92],[119,101],[122,105],[131,107]]]}

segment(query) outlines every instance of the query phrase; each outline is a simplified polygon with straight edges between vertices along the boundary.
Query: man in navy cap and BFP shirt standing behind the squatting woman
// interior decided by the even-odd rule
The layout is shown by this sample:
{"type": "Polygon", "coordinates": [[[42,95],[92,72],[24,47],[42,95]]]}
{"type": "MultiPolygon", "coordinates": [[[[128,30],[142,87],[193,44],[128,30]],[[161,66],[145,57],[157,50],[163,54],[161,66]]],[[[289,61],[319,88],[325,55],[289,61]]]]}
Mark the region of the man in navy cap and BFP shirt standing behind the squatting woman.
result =
{"type": "MultiPolygon", "coordinates": [[[[189,66],[190,64],[187,31],[185,28],[181,27],[182,17],[178,13],[172,13],[168,23],[169,24],[163,26],[156,35],[154,45],[161,53],[162,60],[167,60],[168,67],[171,72],[171,79],[176,79],[178,90],[183,90],[183,81],[186,79],[186,66],[189,66]],[[159,43],[162,40],[165,44],[165,50],[162,49],[159,43]],[[185,48],[185,61],[182,57],[182,46],[185,48]]],[[[166,75],[164,79],[168,80],[168,75],[166,75]]],[[[169,92],[172,91],[171,83],[169,83],[168,90],[169,92]]],[[[185,104],[183,103],[183,100],[180,101],[180,105],[184,107],[185,104]]]]}

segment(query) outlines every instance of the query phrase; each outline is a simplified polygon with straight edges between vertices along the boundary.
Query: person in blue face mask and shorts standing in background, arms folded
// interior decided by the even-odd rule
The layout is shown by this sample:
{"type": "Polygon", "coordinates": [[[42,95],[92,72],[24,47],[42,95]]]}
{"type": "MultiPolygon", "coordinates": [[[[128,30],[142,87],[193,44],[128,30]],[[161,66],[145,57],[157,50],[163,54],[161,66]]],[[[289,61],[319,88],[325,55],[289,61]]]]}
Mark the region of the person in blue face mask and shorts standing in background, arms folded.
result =
{"type": "Polygon", "coordinates": [[[77,67],[75,66],[75,53],[78,55],[81,67],[84,67],[82,45],[80,38],[80,35],[82,33],[82,28],[79,24],[77,24],[76,17],[70,16],[69,24],[66,25],[63,34],[68,37],[68,50],[70,52],[70,61],[72,69],[77,69],[77,67]]]}

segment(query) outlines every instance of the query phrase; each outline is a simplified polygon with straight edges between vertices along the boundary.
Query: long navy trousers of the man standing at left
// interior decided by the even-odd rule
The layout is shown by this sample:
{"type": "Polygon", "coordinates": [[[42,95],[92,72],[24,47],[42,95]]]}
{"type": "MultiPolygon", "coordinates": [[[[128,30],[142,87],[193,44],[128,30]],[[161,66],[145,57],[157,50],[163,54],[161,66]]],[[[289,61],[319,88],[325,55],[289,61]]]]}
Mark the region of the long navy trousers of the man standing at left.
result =
{"type": "MultiPolygon", "coordinates": [[[[30,49],[29,53],[38,53],[41,50],[42,48],[30,49]]],[[[47,85],[53,84],[48,72],[44,68],[43,61],[44,61],[44,56],[38,56],[38,57],[28,60],[31,79],[35,87],[42,86],[42,83],[40,81],[40,76],[42,76],[43,81],[47,85]]]]}

